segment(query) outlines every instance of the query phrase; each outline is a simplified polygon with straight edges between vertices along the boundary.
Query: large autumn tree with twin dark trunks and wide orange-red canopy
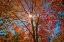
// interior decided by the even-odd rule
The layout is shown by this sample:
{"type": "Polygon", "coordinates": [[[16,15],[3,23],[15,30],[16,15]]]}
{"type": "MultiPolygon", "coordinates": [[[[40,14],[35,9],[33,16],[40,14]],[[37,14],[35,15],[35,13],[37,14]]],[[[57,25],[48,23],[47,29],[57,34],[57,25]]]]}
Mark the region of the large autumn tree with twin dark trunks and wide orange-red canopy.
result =
{"type": "MultiPolygon", "coordinates": [[[[63,21],[63,16],[58,14],[59,11],[64,11],[62,0],[2,0],[1,4],[4,4],[0,10],[1,20],[4,21],[4,24],[9,22],[5,26],[11,25],[20,36],[20,41],[21,38],[26,37],[30,42],[38,42],[38,40],[50,42],[51,35],[54,34],[53,29],[57,24],[56,20],[63,21]],[[10,5],[7,5],[7,2],[10,5]],[[20,20],[22,25],[15,24],[15,20],[20,20]]],[[[61,23],[58,24],[60,26],[61,23]]],[[[0,25],[4,26],[2,23],[0,25]]]]}

